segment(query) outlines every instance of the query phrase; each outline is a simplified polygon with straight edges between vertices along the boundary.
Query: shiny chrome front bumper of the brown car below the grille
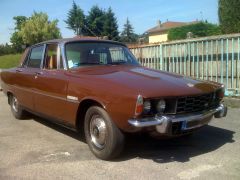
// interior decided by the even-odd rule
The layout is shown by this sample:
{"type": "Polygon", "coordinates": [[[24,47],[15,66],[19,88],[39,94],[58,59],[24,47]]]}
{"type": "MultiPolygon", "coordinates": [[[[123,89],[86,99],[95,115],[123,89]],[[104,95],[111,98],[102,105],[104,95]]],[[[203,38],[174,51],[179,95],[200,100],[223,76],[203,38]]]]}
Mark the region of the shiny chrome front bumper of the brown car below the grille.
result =
{"type": "Polygon", "coordinates": [[[198,112],[193,114],[185,114],[185,115],[163,115],[163,116],[155,116],[155,117],[148,117],[142,119],[129,119],[128,123],[134,127],[141,128],[141,127],[149,127],[149,126],[158,126],[163,123],[163,121],[168,120],[169,122],[181,122],[181,121],[196,121],[202,120],[212,116],[214,113],[224,111],[224,105],[220,104],[219,107],[215,109],[211,109],[207,112],[198,112]]]}

